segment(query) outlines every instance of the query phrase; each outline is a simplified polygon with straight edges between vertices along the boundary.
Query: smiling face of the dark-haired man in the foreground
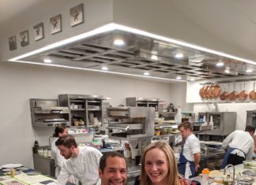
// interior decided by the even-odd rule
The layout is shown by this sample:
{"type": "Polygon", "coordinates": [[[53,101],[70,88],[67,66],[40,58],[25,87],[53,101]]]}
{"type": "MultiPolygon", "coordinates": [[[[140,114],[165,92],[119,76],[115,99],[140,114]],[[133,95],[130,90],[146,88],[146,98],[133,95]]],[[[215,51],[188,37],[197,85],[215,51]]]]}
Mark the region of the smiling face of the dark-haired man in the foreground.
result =
{"type": "Polygon", "coordinates": [[[126,160],[121,157],[107,157],[104,172],[99,170],[102,185],[126,185],[126,160]]]}

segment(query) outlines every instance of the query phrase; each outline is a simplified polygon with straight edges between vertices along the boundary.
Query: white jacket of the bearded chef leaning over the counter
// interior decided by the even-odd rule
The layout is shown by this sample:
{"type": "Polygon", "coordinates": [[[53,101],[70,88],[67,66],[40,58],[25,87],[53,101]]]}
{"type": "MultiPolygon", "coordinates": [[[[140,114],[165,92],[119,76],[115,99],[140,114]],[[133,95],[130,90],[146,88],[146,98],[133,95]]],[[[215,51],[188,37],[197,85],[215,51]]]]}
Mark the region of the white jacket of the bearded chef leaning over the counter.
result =
{"type": "Polygon", "coordinates": [[[71,175],[75,176],[82,185],[100,184],[101,156],[102,154],[96,148],[90,146],[80,148],[77,157],[70,157],[64,161],[56,184],[65,185],[71,175]]]}

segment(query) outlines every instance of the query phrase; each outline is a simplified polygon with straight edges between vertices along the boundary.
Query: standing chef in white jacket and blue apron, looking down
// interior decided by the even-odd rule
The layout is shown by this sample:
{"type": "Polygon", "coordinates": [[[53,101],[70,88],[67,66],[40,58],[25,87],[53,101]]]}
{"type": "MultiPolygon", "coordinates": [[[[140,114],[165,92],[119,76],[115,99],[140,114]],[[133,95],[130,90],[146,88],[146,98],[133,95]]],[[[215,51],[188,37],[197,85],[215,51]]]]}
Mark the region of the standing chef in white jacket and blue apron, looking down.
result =
{"type": "Polygon", "coordinates": [[[200,161],[200,142],[193,134],[190,122],[185,121],[179,124],[179,131],[183,135],[185,143],[179,156],[179,173],[185,176],[186,163],[190,164],[190,178],[194,177],[195,172],[198,172],[200,161]]]}

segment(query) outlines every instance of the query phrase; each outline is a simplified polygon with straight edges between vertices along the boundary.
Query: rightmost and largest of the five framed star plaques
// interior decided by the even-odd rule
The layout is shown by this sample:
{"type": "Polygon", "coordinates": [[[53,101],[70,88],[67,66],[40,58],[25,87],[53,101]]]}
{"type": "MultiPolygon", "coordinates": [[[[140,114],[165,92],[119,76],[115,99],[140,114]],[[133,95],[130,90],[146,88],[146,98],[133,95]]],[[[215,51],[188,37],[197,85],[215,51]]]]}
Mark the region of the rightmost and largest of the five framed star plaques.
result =
{"type": "Polygon", "coordinates": [[[70,26],[75,26],[83,22],[84,22],[84,5],[80,4],[70,9],[70,26]]]}

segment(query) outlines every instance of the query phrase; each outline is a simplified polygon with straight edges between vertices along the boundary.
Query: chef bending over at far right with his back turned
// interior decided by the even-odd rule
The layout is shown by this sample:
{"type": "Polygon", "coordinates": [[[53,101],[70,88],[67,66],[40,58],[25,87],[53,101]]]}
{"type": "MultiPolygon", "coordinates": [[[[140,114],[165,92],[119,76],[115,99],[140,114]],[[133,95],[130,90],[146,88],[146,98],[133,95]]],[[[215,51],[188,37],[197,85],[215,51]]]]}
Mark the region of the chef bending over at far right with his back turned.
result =
{"type": "Polygon", "coordinates": [[[254,135],[255,128],[247,126],[245,131],[233,131],[226,139],[224,139],[222,147],[228,148],[221,168],[226,165],[239,165],[247,159],[251,159],[254,154],[254,135]]]}

